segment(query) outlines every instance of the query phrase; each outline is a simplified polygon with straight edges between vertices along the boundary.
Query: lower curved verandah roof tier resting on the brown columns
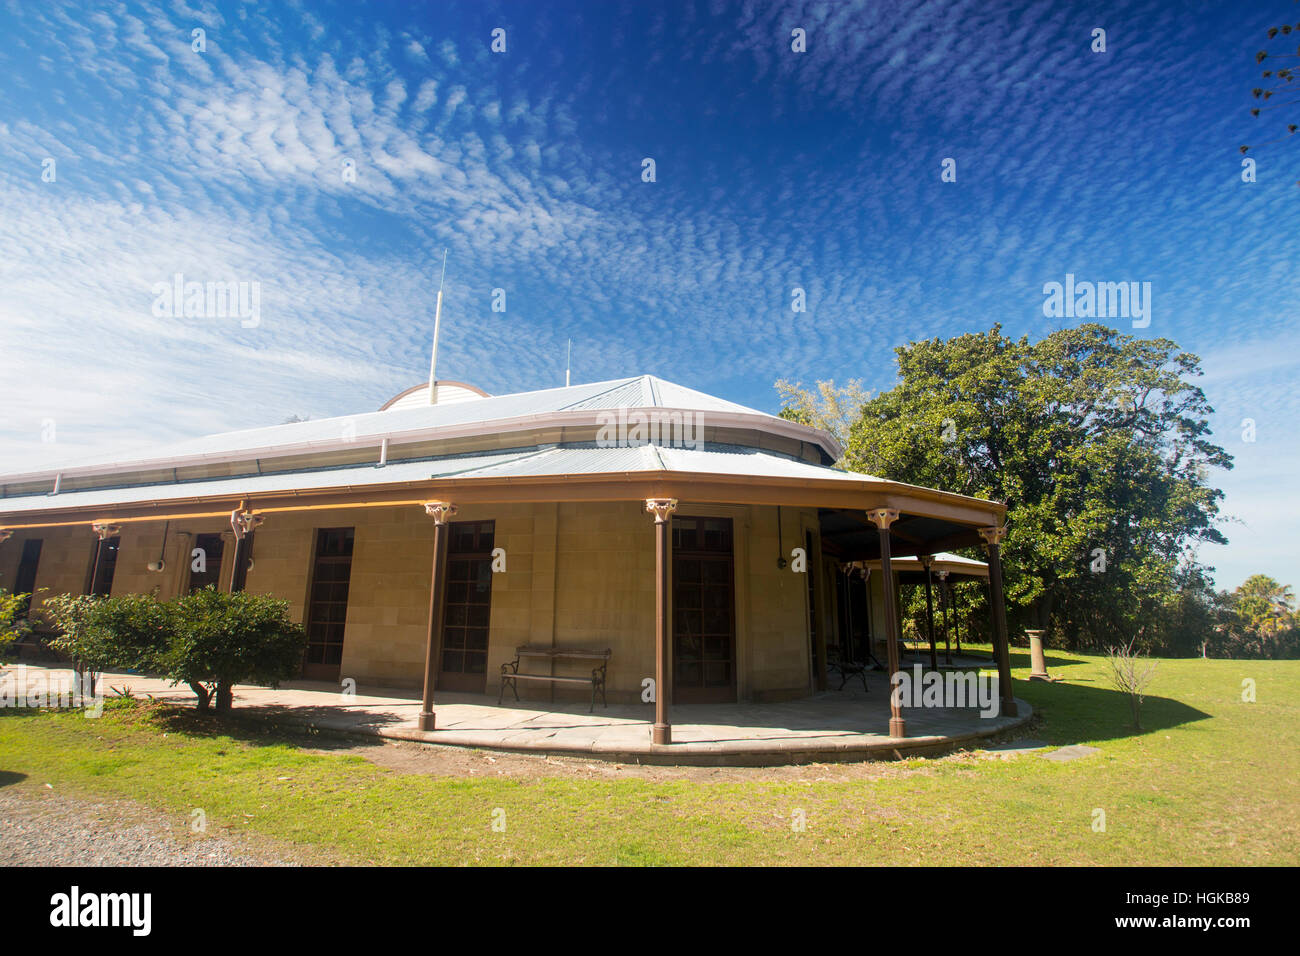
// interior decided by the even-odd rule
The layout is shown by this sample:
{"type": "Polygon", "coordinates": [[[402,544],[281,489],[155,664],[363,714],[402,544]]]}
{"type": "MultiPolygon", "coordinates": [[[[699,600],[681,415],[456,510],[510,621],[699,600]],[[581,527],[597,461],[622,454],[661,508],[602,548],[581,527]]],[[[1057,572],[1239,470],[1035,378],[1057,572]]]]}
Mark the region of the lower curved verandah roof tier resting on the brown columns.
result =
{"type": "Polygon", "coordinates": [[[824,540],[845,559],[879,557],[867,511],[901,514],[890,550],[927,554],[978,544],[1005,506],[898,481],[836,471],[740,446],[551,446],[404,460],[385,466],[276,472],[0,498],[0,528],[224,516],[359,506],[580,502],[679,498],[697,503],[822,510],[824,540]],[[836,536],[837,528],[850,533],[836,536]]]}

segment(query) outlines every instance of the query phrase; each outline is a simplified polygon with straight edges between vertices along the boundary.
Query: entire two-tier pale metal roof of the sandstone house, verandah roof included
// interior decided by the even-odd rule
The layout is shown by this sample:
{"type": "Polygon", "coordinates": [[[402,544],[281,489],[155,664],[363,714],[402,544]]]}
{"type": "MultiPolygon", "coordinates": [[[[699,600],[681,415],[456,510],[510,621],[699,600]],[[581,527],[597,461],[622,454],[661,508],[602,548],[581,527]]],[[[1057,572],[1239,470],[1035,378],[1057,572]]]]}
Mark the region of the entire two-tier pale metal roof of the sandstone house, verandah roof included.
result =
{"type": "MultiPolygon", "coordinates": [[[[644,437],[644,436],[642,436],[644,437]]],[[[228,432],[0,476],[0,529],[359,506],[677,498],[815,507],[842,559],[979,542],[1005,507],[837,471],[824,431],[654,376],[228,432]],[[636,421],[672,423],[638,441],[636,421]],[[632,440],[603,440],[610,423],[632,440]]]]}

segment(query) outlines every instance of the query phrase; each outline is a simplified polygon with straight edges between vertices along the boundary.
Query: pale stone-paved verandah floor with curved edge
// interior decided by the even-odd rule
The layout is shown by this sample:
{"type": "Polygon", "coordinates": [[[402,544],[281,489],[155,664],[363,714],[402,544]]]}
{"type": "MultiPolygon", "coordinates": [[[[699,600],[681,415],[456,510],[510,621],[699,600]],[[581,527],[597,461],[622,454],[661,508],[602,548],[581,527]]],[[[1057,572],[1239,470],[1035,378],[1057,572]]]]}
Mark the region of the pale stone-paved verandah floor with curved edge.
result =
{"type": "MultiPolygon", "coordinates": [[[[60,669],[26,665],[26,670],[30,682],[60,669]]],[[[420,697],[413,691],[360,687],[348,697],[337,684],[295,680],[278,689],[239,685],[235,708],[403,740],[659,763],[789,763],[940,752],[978,747],[982,737],[1022,724],[1031,715],[1024,701],[1018,701],[1019,714],[1010,718],[984,718],[970,708],[905,709],[907,736],[890,737],[884,674],[870,674],[867,680],[870,692],[857,678],[842,691],[833,689],[838,678],[832,676],[832,689],[796,701],[673,706],[670,747],[650,743],[650,704],[597,704],[595,711],[588,713],[589,701],[576,697],[514,702],[507,693],[507,702],[498,706],[495,696],[442,693],[434,702],[438,728],[424,732],[417,728],[420,697]]],[[[108,672],[103,682],[108,695],[130,688],[138,697],[194,701],[187,687],[156,678],[108,672]]]]}

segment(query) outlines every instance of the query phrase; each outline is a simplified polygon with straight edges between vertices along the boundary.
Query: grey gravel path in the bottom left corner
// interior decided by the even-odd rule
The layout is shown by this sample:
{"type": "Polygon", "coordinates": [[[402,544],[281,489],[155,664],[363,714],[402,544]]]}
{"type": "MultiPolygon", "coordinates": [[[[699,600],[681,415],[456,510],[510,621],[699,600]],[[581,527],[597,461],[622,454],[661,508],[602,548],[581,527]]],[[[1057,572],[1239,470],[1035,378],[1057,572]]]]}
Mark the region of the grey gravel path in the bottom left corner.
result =
{"type": "Polygon", "coordinates": [[[0,787],[0,866],[291,866],[229,836],[183,826],[126,801],[0,787]]]}

